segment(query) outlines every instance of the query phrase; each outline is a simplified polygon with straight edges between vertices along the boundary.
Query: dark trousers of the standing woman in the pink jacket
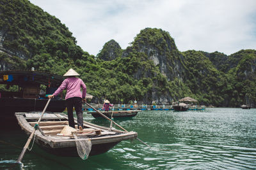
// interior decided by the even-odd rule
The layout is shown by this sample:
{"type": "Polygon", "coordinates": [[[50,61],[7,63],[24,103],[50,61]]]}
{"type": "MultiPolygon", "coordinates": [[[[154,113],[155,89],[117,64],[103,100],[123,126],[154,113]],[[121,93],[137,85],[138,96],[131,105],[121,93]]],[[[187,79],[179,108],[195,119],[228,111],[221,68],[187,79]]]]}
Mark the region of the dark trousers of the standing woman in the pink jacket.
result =
{"type": "Polygon", "coordinates": [[[68,111],[68,125],[75,128],[75,121],[73,115],[73,107],[75,107],[77,115],[78,127],[83,126],[83,110],[82,110],[82,98],[81,97],[70,97],[66,100],[66,106],[68,111]]]}

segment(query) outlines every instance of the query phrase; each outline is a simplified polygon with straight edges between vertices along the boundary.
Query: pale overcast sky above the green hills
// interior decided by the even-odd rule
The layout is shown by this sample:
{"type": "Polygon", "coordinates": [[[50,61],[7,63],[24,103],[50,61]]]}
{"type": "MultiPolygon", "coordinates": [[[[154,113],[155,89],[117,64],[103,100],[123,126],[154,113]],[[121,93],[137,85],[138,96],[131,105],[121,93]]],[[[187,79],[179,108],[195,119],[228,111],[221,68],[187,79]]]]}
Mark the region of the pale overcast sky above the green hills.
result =
{"type": "Polygon", "coordinates": [[[97,55],[115,39],[127,48],[141,29],[168,31],[177,48],[256,49],[255,0],[30,0],[65,24],[77,45],[97,55]]]}

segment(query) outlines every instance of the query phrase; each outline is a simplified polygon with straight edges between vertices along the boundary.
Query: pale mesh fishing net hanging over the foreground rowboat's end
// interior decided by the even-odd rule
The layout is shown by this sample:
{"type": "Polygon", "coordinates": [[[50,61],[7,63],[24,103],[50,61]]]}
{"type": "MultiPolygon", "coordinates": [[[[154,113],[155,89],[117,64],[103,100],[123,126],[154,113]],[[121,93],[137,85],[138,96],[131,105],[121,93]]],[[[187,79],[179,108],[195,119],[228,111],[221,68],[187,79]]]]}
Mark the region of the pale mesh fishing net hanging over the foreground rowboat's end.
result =
{"type": "Polygon", "coordinates": [[[91,139],[77,136],[76,134],[74,134],[74,138],[76,139],[76,148],[79,157],[83,160],[88,159],[92,149],[91,139]]]}

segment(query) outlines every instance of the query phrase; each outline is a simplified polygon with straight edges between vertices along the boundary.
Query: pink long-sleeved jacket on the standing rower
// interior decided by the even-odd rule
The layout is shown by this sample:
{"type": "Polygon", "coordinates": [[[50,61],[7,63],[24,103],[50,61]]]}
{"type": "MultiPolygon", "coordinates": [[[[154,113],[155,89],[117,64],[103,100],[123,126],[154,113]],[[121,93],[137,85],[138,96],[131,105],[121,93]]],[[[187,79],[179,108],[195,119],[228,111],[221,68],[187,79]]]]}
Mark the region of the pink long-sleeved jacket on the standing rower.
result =
{"type": "Polygon", "coordinates": [[[65,99],[70,97],[86,97],[86,85],[83,80],[77,77],[68,77],[66,78],[60,85],[60,87],[52,94],[53,96],[57,96],[63,90],[67,89],[67,94],[65,99]],[[83,89],[83,94],[81,93],[81,87],[83,89]]]}

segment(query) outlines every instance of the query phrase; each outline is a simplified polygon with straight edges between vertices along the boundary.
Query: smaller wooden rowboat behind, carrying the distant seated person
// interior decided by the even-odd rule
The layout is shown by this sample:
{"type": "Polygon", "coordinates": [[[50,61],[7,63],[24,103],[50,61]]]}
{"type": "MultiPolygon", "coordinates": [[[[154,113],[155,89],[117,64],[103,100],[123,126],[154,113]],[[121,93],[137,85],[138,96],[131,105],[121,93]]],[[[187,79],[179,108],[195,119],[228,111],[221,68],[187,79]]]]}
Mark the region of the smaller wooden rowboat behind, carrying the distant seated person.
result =
{"type": "MultiPolygon", "coordinates": [[[[117,110],[117,111],[113,111],[113,117],[114,118],[116,118],[116,117],[135,117],[139,111],[141,111],[141,110],[117,110]]],[[[112,111],[100,111],[100,112],[103,113],[106,117],[111,118],[112,111]]],[[[102,115],[100,115],[96,111],[89,111],[89,112],[87,112],[87,114],[92,114],[92,116],[94,118],[102,117],[102,115]]]]}

